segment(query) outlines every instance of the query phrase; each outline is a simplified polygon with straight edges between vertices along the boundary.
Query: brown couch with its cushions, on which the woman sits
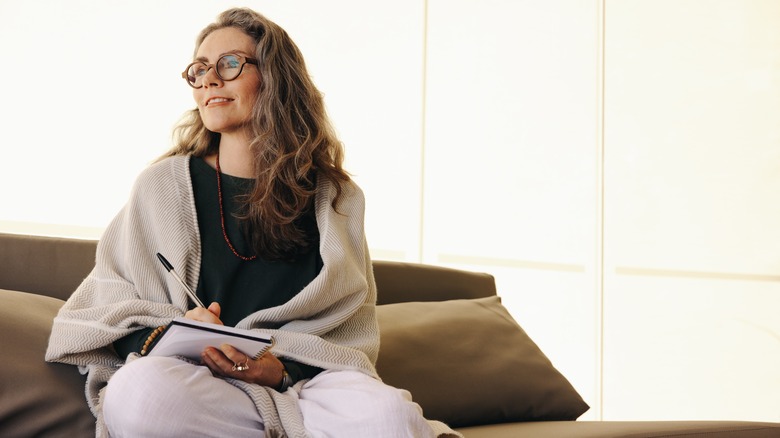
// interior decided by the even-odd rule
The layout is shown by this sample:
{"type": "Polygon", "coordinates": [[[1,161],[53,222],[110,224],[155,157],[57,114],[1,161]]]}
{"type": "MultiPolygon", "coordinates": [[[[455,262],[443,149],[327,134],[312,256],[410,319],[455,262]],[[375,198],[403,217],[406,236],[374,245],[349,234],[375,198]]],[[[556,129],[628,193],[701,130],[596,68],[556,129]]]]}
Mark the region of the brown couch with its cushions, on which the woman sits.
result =
{"type": "MultiPolygon", "coordinates": [[[[95,241],[0,233],[0,436],[89,437],[84,377],[45,363],[51,320],[95,241]]],[[[780,423],[574,421],[588,406],[496,296],[493,277],[374,262],[382,378],[468,438],[780,437],[780,423]]]]}

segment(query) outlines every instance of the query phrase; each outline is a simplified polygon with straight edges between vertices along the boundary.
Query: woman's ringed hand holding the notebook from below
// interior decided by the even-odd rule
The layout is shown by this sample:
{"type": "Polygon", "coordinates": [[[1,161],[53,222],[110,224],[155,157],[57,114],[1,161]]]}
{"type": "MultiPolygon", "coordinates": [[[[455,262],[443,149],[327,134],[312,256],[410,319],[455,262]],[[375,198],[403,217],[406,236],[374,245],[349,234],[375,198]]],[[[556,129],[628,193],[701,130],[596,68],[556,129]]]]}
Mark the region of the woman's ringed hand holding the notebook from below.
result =
{"type": "Polygon", "coordinates": [[[203,350],[201,358],[211,372],[219,376],[271,388],[282,386],[284,365],[271,353],[252,359],[232,345],[222,344],[220,348],[207,347],[203,350]]]}

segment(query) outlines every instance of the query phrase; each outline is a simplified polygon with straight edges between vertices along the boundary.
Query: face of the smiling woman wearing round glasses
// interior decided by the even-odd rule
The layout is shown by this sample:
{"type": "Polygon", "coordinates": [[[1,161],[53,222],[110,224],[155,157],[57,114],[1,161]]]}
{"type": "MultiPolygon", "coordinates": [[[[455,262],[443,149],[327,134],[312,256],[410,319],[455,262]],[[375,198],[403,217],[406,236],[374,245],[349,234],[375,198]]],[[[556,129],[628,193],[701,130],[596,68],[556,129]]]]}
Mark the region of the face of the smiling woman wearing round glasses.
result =
{"type": "MultiPolygon", "coordinates": [[[[215,64],[227,53],[253,58],[255,42],[234,27],[218,29],[211,32],[198,47],[196,60],[215,64]]],[[[223,81],[214,68],[209,69],[203,77],[203,87],[194,89],[192,94],[206,129],[223,136],[243,134],[248,137],[248,123],[259,88],[260,72],[257,66],[246,64],[241,74],[232,81],[223,81]]]]}

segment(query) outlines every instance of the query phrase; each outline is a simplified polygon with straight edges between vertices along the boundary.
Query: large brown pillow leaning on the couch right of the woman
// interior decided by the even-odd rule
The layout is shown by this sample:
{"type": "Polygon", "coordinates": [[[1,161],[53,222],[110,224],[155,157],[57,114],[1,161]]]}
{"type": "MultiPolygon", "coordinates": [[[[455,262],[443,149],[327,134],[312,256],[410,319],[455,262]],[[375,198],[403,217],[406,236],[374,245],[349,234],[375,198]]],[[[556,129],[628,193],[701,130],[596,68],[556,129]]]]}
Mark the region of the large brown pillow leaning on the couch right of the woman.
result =
{"type": "Polygon", "coordinates": [[[452,427],[575,420],[588,405],[497,296],[377,306],[382,380],[452,427]]]}

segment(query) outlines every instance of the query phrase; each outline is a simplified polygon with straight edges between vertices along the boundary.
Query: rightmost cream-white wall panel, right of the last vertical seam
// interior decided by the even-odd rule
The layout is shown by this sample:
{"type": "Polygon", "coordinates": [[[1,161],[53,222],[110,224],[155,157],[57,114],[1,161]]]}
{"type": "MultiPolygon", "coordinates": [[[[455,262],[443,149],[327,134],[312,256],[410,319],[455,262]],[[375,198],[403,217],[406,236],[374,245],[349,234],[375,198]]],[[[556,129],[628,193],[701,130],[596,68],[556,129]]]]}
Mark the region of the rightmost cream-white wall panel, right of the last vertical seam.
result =
{"type": "Polygon", "coordinates": [[[780,2],[605,22],[604,416],[780,421],[780,2]]]}

